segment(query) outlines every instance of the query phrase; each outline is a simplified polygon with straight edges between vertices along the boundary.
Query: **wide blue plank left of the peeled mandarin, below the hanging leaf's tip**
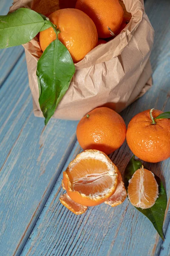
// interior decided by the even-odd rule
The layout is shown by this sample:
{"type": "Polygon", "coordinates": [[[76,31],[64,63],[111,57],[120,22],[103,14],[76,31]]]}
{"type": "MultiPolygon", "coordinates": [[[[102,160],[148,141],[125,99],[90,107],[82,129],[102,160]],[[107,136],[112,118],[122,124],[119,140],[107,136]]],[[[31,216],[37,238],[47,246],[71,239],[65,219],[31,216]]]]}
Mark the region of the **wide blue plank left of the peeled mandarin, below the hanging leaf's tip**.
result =
{"type": "Polygon", "coordinates": [[[77,122],[32,112],[24,55],[0,89],[0,255],[20,252],[75,143],[77,122]]]}

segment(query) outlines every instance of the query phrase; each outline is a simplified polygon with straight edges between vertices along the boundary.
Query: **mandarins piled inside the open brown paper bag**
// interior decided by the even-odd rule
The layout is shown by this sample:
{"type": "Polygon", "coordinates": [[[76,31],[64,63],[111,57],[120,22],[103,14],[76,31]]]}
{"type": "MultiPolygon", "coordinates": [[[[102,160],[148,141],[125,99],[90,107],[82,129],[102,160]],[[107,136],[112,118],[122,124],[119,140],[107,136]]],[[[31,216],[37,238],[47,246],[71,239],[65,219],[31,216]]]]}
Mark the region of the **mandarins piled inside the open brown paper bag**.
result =
{"type": "MultiPolygon", "coordinates": [[[[104,39],[113,39],[131,18],[121,0],[64,0],[61,3],[51,0],[49,6],[43,0],[39,2],[36,5],[35,0],[32,9],[48,16],[57,26],[58,38],[67,47],[74,63],[81,61],[97,45],[107,43],[104,39]]],[[[42,51],[55,39],[52,27],[40,32],[42,51]]]]}

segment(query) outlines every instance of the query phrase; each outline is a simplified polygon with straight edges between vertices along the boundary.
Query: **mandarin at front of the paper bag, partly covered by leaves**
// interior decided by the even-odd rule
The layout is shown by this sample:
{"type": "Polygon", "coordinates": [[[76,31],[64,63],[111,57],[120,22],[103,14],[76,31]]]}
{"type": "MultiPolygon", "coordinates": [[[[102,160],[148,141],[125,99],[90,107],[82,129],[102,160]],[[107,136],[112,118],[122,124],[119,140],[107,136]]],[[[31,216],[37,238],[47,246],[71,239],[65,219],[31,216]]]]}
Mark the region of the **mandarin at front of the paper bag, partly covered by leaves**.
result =
{"type": "MultiPolygon", "coordinates": [[[[77,9],[60,9],[49,16],[52,23],[60,30],[58,39],[71,54],[74,63],[81,61],[85,55],[96,47],[98,35],[96,26],[88,15],[77,9]]],[[[40,32],[42,51],[56,39],[51,27],[40,32]]]]}

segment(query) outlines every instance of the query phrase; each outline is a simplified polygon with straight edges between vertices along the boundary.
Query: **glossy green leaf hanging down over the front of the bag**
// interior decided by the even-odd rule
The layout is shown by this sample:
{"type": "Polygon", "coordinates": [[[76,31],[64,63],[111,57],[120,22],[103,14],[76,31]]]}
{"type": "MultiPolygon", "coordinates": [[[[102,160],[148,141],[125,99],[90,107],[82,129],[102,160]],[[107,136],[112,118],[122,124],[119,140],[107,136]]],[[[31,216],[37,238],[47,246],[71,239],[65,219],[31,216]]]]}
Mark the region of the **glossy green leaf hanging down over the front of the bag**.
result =
{"type": "Polygon", "coordinates": [[[45,49],[37,63],[37,76],[41,86],[39,103],[45,125],[68,90],[74,73],[71,55],[57,38],[45,49]]]}

